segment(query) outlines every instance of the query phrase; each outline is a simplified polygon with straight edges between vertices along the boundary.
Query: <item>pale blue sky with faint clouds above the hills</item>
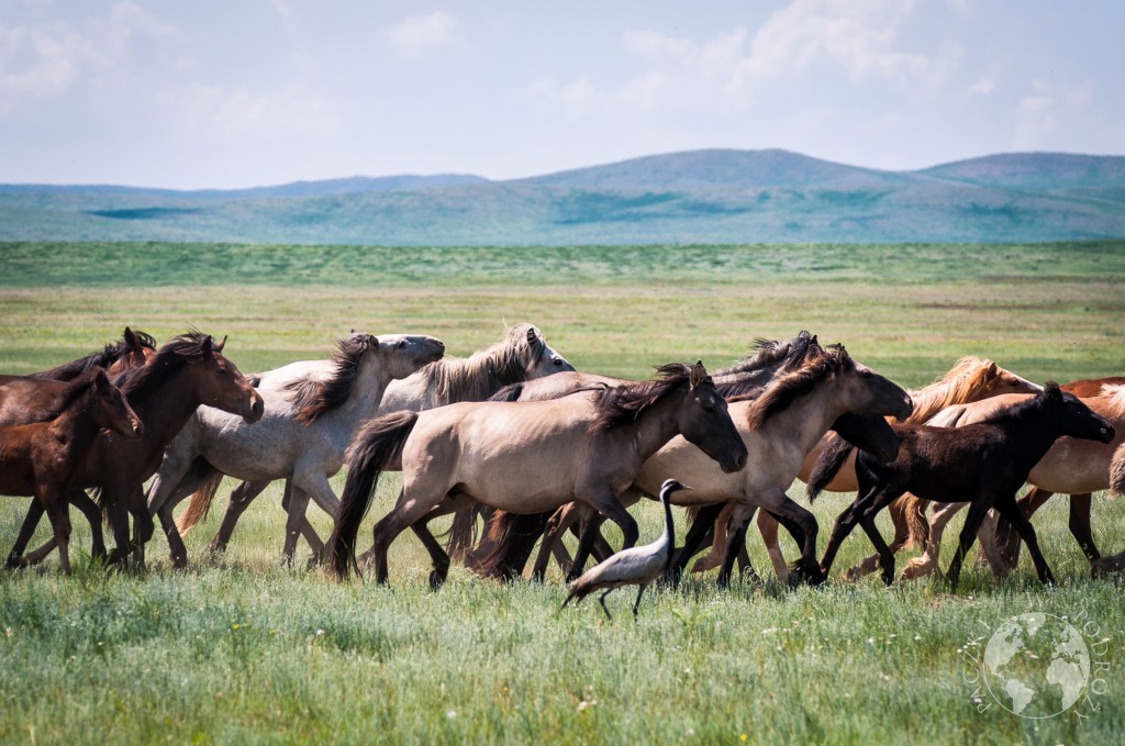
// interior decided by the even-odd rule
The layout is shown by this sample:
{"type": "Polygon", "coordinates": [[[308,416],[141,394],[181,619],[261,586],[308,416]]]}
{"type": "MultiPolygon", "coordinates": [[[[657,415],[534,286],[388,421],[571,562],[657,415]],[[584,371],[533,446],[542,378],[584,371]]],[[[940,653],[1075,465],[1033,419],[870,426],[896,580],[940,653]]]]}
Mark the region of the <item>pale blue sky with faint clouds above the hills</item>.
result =
{"type": "Polygon", "coordinates": [[[1123,32],[1116,0],[0,0],[0,182],[1123,154],[1123,32]]]}

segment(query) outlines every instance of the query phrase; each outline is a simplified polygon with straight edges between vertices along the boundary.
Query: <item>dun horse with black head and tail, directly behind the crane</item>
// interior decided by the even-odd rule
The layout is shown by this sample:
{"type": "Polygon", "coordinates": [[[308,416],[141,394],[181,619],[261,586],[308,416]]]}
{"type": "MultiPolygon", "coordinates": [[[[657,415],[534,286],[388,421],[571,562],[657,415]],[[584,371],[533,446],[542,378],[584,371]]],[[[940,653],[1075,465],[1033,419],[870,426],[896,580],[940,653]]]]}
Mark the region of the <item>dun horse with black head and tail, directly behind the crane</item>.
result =
{"type": "Polygon", "coordinates": [[[632,547],[637,522],[618,495],[672,438],[683,434],[724,470],[746,465],[746,447],[703,363],[659,371],[659,380],[549,402],[451,404],[375,420],[353,446],[332,532],[332,570],[348,575],[378,475],[396,460],[403,492],[376,524],[369,552],[380,583],[387,581],[387,549],[407,527],[433,559],[431,584],[444,582],[449,556],[426,522],[474,500],[512,513],[541,513],[578,500],[616,523],[624,547],[632,547]]]}

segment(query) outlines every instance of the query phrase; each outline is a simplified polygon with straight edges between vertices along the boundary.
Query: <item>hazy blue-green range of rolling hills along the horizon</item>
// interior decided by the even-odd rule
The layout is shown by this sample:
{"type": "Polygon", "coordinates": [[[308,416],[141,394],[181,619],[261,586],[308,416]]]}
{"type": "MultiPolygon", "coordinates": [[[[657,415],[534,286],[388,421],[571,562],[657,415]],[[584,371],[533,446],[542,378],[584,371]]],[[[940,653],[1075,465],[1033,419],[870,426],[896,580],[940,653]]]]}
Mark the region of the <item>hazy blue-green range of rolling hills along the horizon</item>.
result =
{"type": "Polygon", "coordinates": [[[1125,236],[1125,158],[1011,153],[881,171],[706,150],[511,181],[242,190],[0,186],[0,240],[384,245],[1025,242],[1125,236]]]}

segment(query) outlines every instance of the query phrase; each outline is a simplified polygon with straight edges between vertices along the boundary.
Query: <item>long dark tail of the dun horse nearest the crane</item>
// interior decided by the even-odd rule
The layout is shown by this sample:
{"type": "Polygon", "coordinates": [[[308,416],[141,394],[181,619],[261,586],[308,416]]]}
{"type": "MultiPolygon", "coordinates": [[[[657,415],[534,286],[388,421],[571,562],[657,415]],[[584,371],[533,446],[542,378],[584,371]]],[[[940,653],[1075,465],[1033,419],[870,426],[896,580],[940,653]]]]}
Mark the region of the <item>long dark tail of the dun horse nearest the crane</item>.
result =
{"type": "Polygon", "coordinates": [[[345,579],[352,567],[359,573],[356,565],[359,524],[371,505],[379,473],[402,457],[403,446],[417,420],[417,412],[395,412],[371,420],[357,433],[348,453],[348,482],[340,500],[340,515],[328,539],[332,552],[328,567],[338,579],[345,579]]]}

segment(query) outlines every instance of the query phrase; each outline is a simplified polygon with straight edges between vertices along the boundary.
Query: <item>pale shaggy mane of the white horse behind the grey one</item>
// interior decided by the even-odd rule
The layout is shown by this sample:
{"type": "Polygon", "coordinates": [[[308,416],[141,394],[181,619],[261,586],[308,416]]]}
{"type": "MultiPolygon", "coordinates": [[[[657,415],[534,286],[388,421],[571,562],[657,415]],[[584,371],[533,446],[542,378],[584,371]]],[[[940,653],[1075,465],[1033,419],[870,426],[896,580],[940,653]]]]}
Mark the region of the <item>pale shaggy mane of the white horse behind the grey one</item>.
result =
{"type": "Polygon", "coordinates": [[[468,358],[444,357],[423,366],[434,406],[453,402],[483,402],[504,386],[528,379],[528,367],[547,351],[539,330],[516,324],[504,339],[468,358]]]}

